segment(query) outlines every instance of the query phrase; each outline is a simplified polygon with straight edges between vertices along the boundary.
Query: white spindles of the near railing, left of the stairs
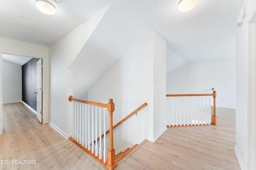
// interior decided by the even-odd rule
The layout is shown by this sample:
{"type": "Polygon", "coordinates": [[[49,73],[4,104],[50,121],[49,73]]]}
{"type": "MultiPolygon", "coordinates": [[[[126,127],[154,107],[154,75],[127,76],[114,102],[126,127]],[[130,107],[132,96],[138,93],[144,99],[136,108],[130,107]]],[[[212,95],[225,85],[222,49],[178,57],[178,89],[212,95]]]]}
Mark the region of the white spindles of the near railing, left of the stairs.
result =
{"type": "Polygon", "coordinates": [[[83,147],[88,148],[91,150],[92,154],[95,152],[95,156],[98,156],[99,159],[102,159],[102,155],[104,158],[104,162],[106,162],[106,127],[105,127],[105,109],[101,107],[96,107],[88,104],[82,104],[79,102],[74,102],[73,104],[74,111],[72,116],[72,139],[76,140],[79,144],[83,147]],[[88,109],[87,109],[88,108],[88,109]],[[104,112],[102,112],[104,109],[104,112]],[[97,111],[99,110],[99,112],[97,111]],[[102,113],[104,114],[102,117],[102,113]],[[99,117],[98,117],[99,115],[99,117]],[[91,119],[90,119],[91,117],[91,119]],[[101,123],[102,118],[104,121],[104,153],[102,152],[102,137],[101,137],[101,123]],[[99,127],[98,127],[99,126],[99,127]],[[98,132],[99,129],[99,133],[98,132]],[[95,132],[94,132],[95,130],[95,132]],[[88,131],[88,133],[87,133],[88,131]],[[94,139],[99,138],[99,146],[98,140],[94,139]],[[92,139],[92,140],[91,140],[92,139]]]}

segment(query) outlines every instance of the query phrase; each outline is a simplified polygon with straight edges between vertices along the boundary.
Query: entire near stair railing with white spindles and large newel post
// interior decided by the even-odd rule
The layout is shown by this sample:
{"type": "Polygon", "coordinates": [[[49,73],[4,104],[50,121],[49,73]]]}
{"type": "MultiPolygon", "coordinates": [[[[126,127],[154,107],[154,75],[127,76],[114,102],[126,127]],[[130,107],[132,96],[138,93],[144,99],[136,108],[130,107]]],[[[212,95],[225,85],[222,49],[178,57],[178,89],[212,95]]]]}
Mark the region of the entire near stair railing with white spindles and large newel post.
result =
{"type": "Polygon", "coordinates": [[[113,144],[113,112],[114,103],[110,99],[108,104],[102,104],[98,102],[92,102],[87,100],[81,100],[69,96],[68,100],[73,101],[73,113],[72,113],[72,137],[69,139],[76,143],[80,148],[90,154],[98,162],[104,165],[108,170],[113,170],[116,168],[117,164],[115,162],[115,150],[113,144]],[[108,158],[106,155],[106,134],[104,135],[104,151],[102,160],[102,142],[101,142],[101,129],[102,129],[102,111],[104,117],[104,132],[106,132],[105,127],[105,110],[109,112],[109,149],[108,158]],[[98,112],[98,113],[97,113],[98,112]],[[97,118],[97,115],[99,117],[97,118]],[[90,117],[91,116],[91,117],[90,117]],[[99,125],[98,125],[99,122],[99,125]],[[95,123],[95,125],[94,125],[95,123]],[[97,127],[99,126],[99,132],[97,127]],[[95,130],[95,132],[94,132],[95,130]],[[94,144],[95,139],[100,136],[100,142],[94,144]]]}

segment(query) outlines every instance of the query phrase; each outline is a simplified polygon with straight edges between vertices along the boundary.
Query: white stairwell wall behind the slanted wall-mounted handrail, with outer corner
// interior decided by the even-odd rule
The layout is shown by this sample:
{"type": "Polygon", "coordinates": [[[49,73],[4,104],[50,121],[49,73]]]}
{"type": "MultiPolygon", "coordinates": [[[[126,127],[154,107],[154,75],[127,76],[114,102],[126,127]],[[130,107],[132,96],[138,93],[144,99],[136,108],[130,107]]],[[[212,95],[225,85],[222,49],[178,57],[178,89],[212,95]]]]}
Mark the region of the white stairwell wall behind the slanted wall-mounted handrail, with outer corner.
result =
{"type": "Polygon", "coordinates": [[[154,141],[166,129],[166,43],[149,31],[88,91],[88,100],[115,103],[114,125],[147,102],[148,106],[114,130],[114,148],[144,139],[154,141]],[[155,62],[155,63],[154,63],[155,62]],[[157,101],[158,100],[158,101],[157,101]]]}

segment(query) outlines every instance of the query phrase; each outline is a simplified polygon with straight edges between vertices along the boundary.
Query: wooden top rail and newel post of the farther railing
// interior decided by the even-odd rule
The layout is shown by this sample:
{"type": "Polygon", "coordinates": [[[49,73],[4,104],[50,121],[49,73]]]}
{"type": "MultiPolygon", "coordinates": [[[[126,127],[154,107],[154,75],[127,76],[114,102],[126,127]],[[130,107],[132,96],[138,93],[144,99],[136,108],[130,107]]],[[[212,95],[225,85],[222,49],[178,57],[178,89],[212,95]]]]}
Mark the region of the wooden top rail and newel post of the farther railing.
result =
{"type": "Polygon", "coordinates": [[[212,88],[212,94],[166,94],[166,97],[183,97],[183,96],[212,96],[213,97],[213,115],[212,115],[212,125],[217,125],[216,117],[216,102],[215,98],[217,96],[216,91],[212,88]]]}

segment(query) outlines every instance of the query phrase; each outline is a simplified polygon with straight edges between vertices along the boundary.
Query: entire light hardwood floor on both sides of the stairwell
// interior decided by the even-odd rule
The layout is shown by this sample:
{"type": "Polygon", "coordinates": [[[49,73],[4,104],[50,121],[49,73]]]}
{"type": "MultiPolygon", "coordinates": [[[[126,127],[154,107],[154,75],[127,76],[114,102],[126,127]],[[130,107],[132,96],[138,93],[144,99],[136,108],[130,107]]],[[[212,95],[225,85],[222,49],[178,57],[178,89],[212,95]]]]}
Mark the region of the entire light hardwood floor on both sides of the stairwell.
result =
{"type": "MultiPolygon", "coordinates": [[[[1,164],[6,170],[104,169],[82,149],[41,124],[22,103],[3,105],[1,160],[36,160],[36,164],[1,164]]],[[[235,110],[217,108],[218,126],[168,128],[147,141],[116,170],[239,170],[234,152],[235,110]]],[[[3,163],[3,162],[2,162],[3,163]]]]}

